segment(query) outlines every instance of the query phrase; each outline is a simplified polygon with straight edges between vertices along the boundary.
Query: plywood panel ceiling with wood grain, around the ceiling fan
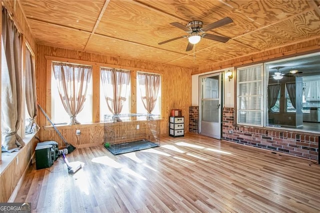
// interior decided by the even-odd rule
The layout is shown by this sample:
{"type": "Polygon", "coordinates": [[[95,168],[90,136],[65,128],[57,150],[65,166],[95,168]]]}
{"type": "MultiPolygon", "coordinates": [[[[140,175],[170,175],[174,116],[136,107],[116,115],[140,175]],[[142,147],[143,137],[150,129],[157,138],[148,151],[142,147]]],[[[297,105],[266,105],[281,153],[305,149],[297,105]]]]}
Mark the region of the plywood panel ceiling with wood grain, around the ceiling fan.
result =
{"type": "Polygon", "coordinates": [[[23,0],[38,44],[177,66],[198,67],[320,37],[320,1],[307,0],[23,0]],[[187,35],[170,25],[224,17],[233,22],[185,51],[187,35]],[[194,57],[195,55],[195,57],[194,57]]]}

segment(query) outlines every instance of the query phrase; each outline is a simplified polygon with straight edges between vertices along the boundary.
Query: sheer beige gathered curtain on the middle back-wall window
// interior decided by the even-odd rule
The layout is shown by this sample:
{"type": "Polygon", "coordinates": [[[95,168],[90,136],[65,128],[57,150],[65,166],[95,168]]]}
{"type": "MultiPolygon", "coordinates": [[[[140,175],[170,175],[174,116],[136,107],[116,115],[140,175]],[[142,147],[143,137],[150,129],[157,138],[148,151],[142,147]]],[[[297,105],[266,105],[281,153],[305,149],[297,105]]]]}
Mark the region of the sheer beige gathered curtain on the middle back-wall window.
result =
{"type": "Polygon", "coordinates": [[[102,67],[100,76],[106,105],[112,114],[119,114],[124,101],[127,99],[130,71],[102,67]]]}

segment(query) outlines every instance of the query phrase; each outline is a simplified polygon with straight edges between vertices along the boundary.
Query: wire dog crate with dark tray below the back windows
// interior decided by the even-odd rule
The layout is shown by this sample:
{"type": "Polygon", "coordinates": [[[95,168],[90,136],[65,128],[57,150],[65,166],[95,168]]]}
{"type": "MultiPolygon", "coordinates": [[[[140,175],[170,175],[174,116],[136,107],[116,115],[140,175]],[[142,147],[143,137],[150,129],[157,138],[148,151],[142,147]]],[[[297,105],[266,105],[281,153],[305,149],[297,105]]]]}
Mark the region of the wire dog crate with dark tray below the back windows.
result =
{"type": "Polygon", "coordinates": [[[104,147],[112,154],[160,145],[160,115],[104,115],[104,147]]]}

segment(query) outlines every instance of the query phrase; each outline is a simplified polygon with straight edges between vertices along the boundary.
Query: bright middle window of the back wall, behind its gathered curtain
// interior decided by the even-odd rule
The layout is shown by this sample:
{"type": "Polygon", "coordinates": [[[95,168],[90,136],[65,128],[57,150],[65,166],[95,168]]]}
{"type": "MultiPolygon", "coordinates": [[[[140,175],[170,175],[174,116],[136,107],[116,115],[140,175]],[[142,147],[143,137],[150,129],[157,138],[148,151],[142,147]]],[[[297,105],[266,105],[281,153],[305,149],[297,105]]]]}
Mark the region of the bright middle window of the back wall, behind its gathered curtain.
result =
{"type": "MultiPolygon", "coordinates": [[[[125,75],[125,79],[122,76],[122,81],[119,81],[119,84],[117,86],[119,90],[119,95],[121,97],[122,101],[122,109],[121,112],[119,114],[128,114],[130,113],[130,71],[129,70],[121,70],[121,69],[113,69],[113,68],[105,68],[105,67],[101,67],[100,69],[100,74],[101,71],[106,71],[108,72],[108,74],[110,74],[111,70],[114,70],[118,79],[120,77],[119,74],[121,74],[121,71],[123,72],[122,74],[125,75]],[[128,78],[128,79],[127,79],[128,78]]],[[[105,78],[111,77],[111,75],[105,75],[105,78]]],[[[111,115],[113,114],[112,111],[110,110],[110,108],[107,105],[106,102],[106,98],[105,97],[105,92],[106,91],[113,91],[113,85],[112,85],[112,81],[111,79],[105,79],[105,84],[103,85],[102,83],[102,78],[100,77],[100,121],[103,122],[104,121],[104,115],[108,114],[111,115]]],[[[110,102],[109,102],[110,104],[110,102]]],[[[112,107],[112,106],[111,106],[112,107]]]]}

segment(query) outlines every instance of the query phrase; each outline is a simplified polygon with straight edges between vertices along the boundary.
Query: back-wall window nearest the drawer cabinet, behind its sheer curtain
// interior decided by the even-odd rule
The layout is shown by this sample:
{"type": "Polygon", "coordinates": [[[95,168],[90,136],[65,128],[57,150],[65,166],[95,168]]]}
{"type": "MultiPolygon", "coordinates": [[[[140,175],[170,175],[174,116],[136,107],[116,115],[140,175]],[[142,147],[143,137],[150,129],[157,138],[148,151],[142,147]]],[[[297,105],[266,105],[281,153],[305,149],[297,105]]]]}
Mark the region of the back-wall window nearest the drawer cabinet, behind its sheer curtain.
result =
{"type": "MultiPolygon", "coordinates": [[[[146,107],[147,104],[143,103],[142,99],[146,101],[148,98],[155,99],[154,108],[151,111],[151,114],[161,114],[161,76],[159,74],[153,73],[145,73],[145,72],[137,72],[136,77],[136,113],[148,113],[146,107]],[[145,84],[144,81],[139,82],[140,77],[144,77],[143,75],[149,75],[152,78],[153,84],[145,84]],[[158,82],[158,84],[154,84],[154,82],[158,82]],[[146,95],[149,93],[149,95],[146,95]],[[152,95],[156,95],[152,97],[152,95]]],[[[152,102],[150,100],[149,102],[152,102]]]]}

